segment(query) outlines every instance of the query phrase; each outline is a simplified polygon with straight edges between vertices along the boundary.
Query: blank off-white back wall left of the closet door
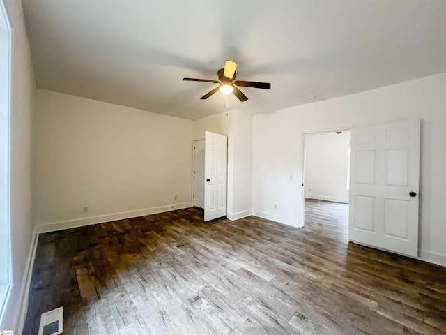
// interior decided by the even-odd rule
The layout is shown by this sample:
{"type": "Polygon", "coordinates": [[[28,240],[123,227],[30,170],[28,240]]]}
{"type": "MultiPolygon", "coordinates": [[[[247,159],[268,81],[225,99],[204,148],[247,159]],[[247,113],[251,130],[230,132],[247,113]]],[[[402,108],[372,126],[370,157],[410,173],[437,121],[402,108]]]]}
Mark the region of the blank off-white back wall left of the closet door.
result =
{"type": "Polygon", "coordinates": [[[192,121],[36,92],[40,231],[191,206],[192,121]]]}

